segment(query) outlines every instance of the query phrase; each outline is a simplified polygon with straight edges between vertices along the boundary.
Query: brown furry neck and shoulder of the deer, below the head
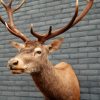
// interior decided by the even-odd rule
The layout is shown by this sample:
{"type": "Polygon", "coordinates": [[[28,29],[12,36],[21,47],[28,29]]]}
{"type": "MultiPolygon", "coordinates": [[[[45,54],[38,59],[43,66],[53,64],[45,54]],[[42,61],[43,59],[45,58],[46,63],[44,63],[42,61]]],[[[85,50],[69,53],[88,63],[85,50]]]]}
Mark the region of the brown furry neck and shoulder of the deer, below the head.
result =
{"type": "Polygon", "coordinates": [[[78,79],[69,64],[44,66],[43,71],[32,74],[32,78],[45,100],[80,100],[78,79]]]}

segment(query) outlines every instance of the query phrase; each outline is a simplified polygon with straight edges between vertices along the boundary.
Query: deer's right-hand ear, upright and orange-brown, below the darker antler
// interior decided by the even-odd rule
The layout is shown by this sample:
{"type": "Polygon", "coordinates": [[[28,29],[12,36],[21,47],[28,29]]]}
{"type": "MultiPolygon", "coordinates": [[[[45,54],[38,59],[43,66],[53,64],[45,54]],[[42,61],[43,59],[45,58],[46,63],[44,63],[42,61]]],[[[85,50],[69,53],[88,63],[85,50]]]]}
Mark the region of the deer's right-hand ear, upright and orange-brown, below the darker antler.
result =
{"type": "Polygon", "coordinates": [[[62,42],[64,41],[64,38],[60,38],[60,39],[57,39],[57,40],[54,40],[49,46],[48,46],[48,49],[49,49],[49,52],[52,53],[56,50],[58,50],[62,44],[62,42]]]}

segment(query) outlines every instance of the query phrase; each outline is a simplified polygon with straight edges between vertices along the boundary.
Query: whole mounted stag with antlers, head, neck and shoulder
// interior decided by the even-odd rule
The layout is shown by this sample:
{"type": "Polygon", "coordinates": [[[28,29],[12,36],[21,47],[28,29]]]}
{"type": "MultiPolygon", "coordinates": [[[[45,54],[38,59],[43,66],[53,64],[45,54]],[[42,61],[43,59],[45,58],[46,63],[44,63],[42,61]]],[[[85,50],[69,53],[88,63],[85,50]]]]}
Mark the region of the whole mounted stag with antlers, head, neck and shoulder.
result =
{"type": "Polygon", "coordinates": [[[93,5],[94,0],[89,0],[84,10],[78,15],[78,0],[76,0],[75,13],[69,23],[60,29],[49,31],[43,35],[34,32],[32,25],[30,33],[35,36],[36,40],[30,40],[14,24],[13,13],[16,12],[25,2],[12,8],[13,0],[5,4],[0,0],[5,8],[9,21],[6,22],[0,15],[0,21],[6,26],[7,30],[23,40],[24,44],[12,42],[11,44],[18,49],[19,54],[8,61],[8,67],[13,74],[29,73],[35,81],[37,87],[44,94],[45,100],[80,100],[79,82],[74,70],[68,63],[61,62],[53,65],[48,60],[48,55],[59,49],[63,39],[57,39],[49,45],[44,43],[72,28],[82,20],[93,5]]]}

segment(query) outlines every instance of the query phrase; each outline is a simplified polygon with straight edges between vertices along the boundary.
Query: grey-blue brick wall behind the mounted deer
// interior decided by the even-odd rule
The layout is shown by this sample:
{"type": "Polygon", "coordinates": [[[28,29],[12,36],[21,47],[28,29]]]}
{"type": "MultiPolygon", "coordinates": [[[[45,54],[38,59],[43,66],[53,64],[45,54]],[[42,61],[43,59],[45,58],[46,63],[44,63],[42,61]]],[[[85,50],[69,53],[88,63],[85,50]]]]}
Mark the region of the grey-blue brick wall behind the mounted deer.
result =
{"type": "MultiPolygon", "coordinates": [[[[80,0],[80,11],[85,4],[80,0]]],[[[59,28],[72,17],[74,5],[75,0],[27,0],[14,14],[15,23],[33,39],[30,23],[34,23],[34,29],[41,33],[47,32],[50,25],[59,28]]],[[[0,14],[7,19],[1,6],[0,14]]],[[[100,100],[100,0],[95,0],[79,24],[59,37],[64,37],[65,41],[61,49],[50,56],[51,61],[66,61],[73,65],[80,80],[81,100],[100,100]]],[[[12,75],[7,69],[8,59],[17,52],[10,46],[11,40],[20,41],[0,23],[0,100],[43,100],[30,75],[12,75]]]]}

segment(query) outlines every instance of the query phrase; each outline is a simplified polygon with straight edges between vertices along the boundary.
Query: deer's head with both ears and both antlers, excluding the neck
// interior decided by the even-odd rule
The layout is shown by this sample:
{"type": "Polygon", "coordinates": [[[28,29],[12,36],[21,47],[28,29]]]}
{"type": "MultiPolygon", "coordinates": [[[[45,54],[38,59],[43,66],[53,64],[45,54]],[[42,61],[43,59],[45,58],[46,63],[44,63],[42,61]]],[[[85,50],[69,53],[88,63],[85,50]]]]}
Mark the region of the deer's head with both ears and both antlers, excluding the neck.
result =
{"type": "Polygon", "coordinates": [[[9,19],[9,21],[6,22],[0,15],[0,21],[6,26],[11,34],[19,37],[24,42],[24,44],[12,42],[12,45],[19,50],[19,54],[8,61],[8,66],[12,72],[19,74],[23,72],[39,72],[41,70],[39,67],[40,64],[42,65],[48,62],[48,54],[57,50],[60,47],[63,39],[55,40],[49,45],[44,45],[45,41],[64,33],[75,24],[77,24],[80,20],[82,20],[82,18],[92,7],[94,0],[88,1],[85,9],[81,12],[80,15],[78,15],[78,0],[76,0],[75,13],[72,19],[69,21],[69,23],[60,29],[52,30],[52,27],[50,26],[49,31],[41,35],[37,32],[34,32],[31,25],[30,33],[35,36],[37,40],[30,40],[21,31],[19,31],[14,24],[13,13],[16,12],[24,4],[25,0],[22,0],[21,3],[15,8],[12,8],[13,0],[9,0],[8,4],[5,4],[3,0],[0,1],[5,8],[9,19]]]}

